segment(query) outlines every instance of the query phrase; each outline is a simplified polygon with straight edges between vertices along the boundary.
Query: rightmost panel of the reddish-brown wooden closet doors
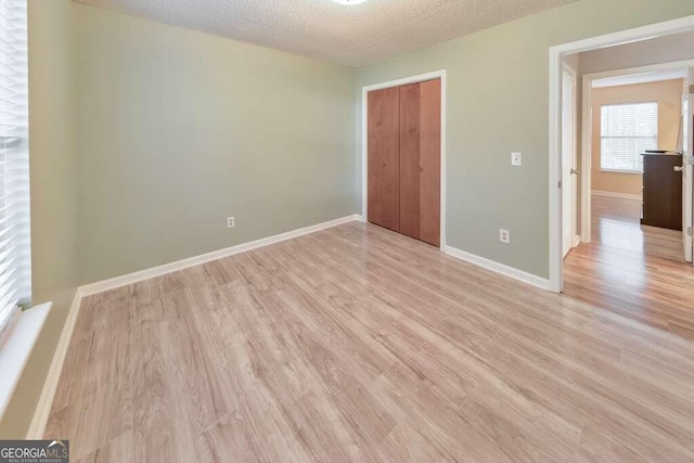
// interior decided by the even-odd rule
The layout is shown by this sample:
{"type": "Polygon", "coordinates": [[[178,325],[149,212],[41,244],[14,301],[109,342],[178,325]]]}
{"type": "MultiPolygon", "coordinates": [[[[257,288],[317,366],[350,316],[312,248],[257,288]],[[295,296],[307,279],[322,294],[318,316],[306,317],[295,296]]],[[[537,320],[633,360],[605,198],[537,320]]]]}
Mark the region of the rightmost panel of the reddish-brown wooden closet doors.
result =
{"type": "Polygon", "coordinates": [[[420,83],[420,240],[440,245],[441,80],[420,83]]]}

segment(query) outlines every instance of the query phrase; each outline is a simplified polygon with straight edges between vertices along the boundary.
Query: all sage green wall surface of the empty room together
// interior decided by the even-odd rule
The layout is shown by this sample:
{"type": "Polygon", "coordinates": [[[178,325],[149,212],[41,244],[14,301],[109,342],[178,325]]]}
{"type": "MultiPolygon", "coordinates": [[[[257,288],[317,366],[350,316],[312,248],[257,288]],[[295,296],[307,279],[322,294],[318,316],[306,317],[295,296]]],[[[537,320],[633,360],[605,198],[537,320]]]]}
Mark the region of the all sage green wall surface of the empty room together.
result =
{"type": "Polygon", "coordinates": [[[690,14],[581,0],[355,72],[29,1],[34,296],[55,306],[0,437],[26,434],[77,281],[355,213],[364,85],[448,69],[449,244],[547,276],[549,47],[690,14]]]}

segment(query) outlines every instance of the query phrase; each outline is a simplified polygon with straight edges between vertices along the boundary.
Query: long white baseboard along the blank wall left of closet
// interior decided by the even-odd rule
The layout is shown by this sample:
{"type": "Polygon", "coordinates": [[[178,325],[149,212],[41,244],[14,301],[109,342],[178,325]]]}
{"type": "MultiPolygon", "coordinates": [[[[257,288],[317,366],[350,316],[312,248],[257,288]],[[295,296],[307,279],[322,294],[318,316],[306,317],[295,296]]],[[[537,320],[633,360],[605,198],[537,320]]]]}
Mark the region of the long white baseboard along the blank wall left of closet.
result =
{"type": "Polygon", "coordinates": [[[248,250],[257,249],[259,247],[269,246],[271,244],[280,243],[282,241],[291,240],[293,237],[303,236],[309,233],[314,233],[317,231],[325,230],[331,227],[340,226],[343,223],[347,223],[347,222],[351,222],[360,219],[361,219],[361,216],[357,214],[352,216],[340,217],[339,219],[330,220],[326,222],[317,223],[314,226],[305,227],[303,229],[292,230],[285,233],[275,234],[273,236],[268,236],[260,240],[237,244],[235,246],[227,247],[224,249],[213,250],[211,253],[189,257],[187,259],[178,260],[176,262],[165,263],[163,266],[153,267],[151,269],[140,270],[133,273],[115,276],[115,278],[103,280],[97,283],[86,284],[83,286],[80,286],[81,295],[82,297],[85,297],[85,296],[90,296],[92,294],[103,293],[104,291],[111,291],[111,290],[115,290],[132,283],[138,283],[143,280],[149,280],[151,278],[162,276],[167,273],[187,269],[189,267],[200,266],[201,263],[209,262],[211,260],[217,260],[224,257],[233,256],[234,254],[245,253],[248,250]]]}

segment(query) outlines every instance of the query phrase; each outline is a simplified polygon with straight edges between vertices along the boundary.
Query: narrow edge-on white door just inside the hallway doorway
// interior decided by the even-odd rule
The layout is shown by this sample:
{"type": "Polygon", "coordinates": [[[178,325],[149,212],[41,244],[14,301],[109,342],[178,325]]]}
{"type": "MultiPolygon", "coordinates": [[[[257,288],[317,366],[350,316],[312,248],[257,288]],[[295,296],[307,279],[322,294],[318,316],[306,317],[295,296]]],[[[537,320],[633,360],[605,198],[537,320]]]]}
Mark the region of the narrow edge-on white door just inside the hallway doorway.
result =
{"type": "Polygon", "coordinates": [[[562,253],[566,257],[576,237],[576,74],[562,74],[562,253]]]}

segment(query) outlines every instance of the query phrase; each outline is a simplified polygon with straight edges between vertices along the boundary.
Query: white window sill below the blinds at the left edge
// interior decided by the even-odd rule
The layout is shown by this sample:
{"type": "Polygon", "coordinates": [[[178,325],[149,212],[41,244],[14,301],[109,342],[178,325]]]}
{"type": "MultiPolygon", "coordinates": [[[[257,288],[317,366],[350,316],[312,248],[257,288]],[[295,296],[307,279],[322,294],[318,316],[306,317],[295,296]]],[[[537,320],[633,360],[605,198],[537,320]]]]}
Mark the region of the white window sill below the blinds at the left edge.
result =
{"type": "Polygon", "coordinates": [[[20,312],[0,349],[0,421],[50,311],[51,303],[46,303],[20,312]]]}

